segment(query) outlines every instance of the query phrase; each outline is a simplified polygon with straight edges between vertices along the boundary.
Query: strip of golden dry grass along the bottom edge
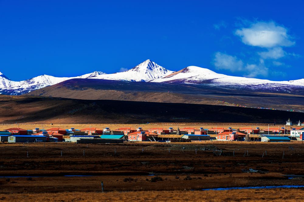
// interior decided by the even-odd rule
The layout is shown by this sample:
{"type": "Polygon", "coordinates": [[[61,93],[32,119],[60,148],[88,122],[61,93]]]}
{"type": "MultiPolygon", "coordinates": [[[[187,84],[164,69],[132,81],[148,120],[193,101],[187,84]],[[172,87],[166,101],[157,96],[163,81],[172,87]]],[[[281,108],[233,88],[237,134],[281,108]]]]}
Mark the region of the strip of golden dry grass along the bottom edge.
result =
{"type": "Polygon", "coordinates": [[[139,191],[139,192],[64,192],[64,193],[24,193],[0,196],[0,200],[17,201],[48,201],[48,202],[97,202],[97,201],[124,201],[124,202],[300,202],[303,201],[302,189],[250,189],[250,190],[225,190],[225,191],[139,191]]]}

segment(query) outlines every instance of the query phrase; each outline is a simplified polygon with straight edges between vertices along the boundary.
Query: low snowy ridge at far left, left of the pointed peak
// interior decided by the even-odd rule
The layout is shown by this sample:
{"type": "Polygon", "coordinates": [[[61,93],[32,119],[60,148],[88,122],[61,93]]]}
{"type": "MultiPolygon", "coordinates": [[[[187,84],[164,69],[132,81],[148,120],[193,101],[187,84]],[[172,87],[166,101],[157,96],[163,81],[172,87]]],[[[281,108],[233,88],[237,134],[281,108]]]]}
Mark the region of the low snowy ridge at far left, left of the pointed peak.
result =
{"type": "Polygon", "coordinates": [[[58,84],[62,81],[75,78],[90,78],[105,74],[103,72],[95,71],[90,74],[84,74],[78,77],[53,77],[50,75],[41,75],[28,80],[12,81],[0,72],[0,94],[19,95],[37,90],[43,87],[58,84]]]}

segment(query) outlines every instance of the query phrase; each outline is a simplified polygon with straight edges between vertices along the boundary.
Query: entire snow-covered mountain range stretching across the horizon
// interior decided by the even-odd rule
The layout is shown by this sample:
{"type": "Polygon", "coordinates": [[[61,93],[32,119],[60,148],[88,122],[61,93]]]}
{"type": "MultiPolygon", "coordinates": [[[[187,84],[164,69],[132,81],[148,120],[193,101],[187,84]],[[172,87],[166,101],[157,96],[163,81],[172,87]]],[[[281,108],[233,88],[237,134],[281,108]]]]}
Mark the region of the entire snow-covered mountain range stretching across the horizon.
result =
{"type": "Polygon", "coordinates": [[[41,75],[28,80],[12,81],[0,72],[0,94],[19,95],[28,93],[50,85],[58,84],[62,81],[82,78],[82,79],[107,79],[122,81],[144,81],[144,82],[169,82],[169,83],[191,83],[191,84],[214,84],[214,85],[255,85],[262,87],[278,87],[280,85],[304,86],[304,79],[290,81],[271,81],[246,77],[234,77],[225,74],[218,74],[212,70],[189,66],[180,71],[173,72],[159,66],[151,60],[146,60],[136,67],[115,74],[105,74],[100,71],[84,74],[78,77],[53,77],[50,75],[41,75]]]}

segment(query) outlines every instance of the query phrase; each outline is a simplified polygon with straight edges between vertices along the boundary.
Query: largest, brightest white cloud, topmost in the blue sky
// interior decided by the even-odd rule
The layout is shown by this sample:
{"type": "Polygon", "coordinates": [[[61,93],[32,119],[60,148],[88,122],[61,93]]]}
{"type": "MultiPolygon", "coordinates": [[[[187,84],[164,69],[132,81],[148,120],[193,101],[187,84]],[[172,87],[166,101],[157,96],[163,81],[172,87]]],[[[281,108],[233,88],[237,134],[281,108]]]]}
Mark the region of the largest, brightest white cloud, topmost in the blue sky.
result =
{"type": "Polygon", "coordinates": [[[257,22],[249,28],[238,29],[235,34],[247,45],[272,48],[295,44],[287,32],[286,28],[277,26],[275,22],[257,22]]]}

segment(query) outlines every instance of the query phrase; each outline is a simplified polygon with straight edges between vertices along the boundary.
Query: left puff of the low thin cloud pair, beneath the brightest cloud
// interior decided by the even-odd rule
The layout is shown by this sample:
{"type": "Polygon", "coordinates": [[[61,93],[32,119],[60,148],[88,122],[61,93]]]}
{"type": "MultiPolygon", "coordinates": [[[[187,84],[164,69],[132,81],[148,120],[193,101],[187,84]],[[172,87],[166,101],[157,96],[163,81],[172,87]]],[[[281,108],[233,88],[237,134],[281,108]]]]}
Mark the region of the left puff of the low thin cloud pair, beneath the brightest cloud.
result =
{"type": "Polygon", "coordinates": [[[243,61],[238,60],[235,56],[217,52],[214,58],[214,66],[217,69],[230,70],[232,72],[240,71],[243,69],[243,61]]]}

